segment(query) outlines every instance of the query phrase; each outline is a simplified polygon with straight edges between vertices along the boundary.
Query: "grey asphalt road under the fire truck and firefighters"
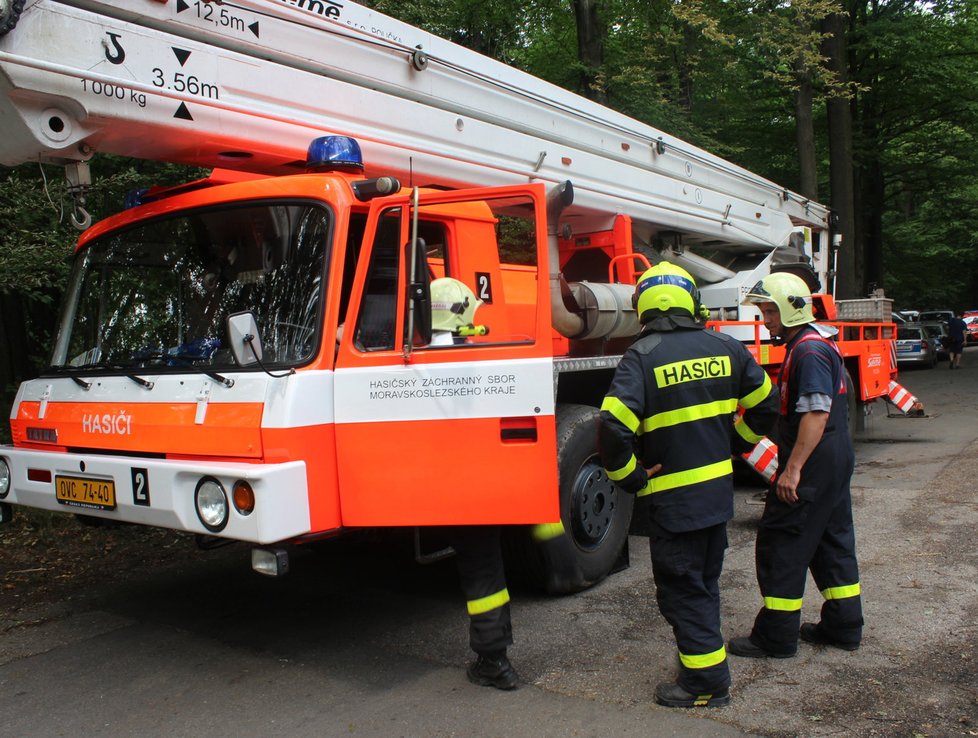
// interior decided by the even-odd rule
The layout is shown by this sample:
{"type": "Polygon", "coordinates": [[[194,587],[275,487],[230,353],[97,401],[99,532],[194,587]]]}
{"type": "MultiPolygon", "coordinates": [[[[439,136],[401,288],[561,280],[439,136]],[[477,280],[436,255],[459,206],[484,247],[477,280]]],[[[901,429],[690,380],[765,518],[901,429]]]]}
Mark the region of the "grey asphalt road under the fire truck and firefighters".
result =
{"type": "MultiPolygon", "coordinates": [[[[655,607],[641,538],[630,540],[630,568],[587,592],[514,593],[511,657],[524,684],[511,693],[466,681],[466,617],[452,562],[422,568],[387,548],[343,555],[324,547],[272,580],[249,570],[246,549],[228,548],[202,554],[190,570],[98,588],[58,618],[0,628],[0,736],[944,735],[927,732],[926,720],[938,718],[908,718],[923,726],[918,731],[896,713],[888,717],[885,703],[840,714],[831,706],[886,680],[873,674],[912,666],[911,642],[931,652],[956,628],[974,632],[974,544],[958,544],[970,552],[970,569],[958,573],[971,582],[939,618],[926,588],[928,577],[942,576],[940,567],[927,568],[936,564],[929,551],[940,547],[916,540],[915,523],[890,517],[909,516],[949,465],[974,455],[978,349],[965,359],[958,372],[944,362],[903,374],[928,417],[889,417],[877,403],[857,442],[863,648],[803,646],[797,659],[778,664],[732,659],[728,708],[693,713],[654,704],[655,684],[672,675],[675,647],[655,607]],[[921,562],[924,569],[905,570],[921,562]],[[919,586],[903,587],[910,576],[919,586]],[[919,625],[908,637],[912,623],[919,625]]],[[[738,490],[730,525],[721,582],[727,637],[747,632],[759,604],[757,492],[738,490]]],[[[818,599],[806,599],[806,619],[817,618],[818,599]]],[[[947,710],[964,715],[957,724],[978,721],[974,697],[946,698],[947,710]]],[[[930,698],[923,699],[926,713],[930,698]]]]}

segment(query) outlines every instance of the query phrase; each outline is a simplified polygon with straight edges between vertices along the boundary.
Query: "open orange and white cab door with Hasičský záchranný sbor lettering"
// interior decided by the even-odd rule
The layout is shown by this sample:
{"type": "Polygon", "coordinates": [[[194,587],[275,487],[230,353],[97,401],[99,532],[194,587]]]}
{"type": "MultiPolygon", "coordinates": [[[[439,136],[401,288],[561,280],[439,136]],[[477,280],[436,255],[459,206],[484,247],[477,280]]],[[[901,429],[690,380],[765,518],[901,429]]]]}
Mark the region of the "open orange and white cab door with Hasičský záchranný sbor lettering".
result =
{"type": "Polygon", "coordinates": [[[336,359],[344,525],[559,519],[547,270],[540,185],[371,203],[336,359]],[[488,333],[429,342],[419,269],[464,282],[461,332],[488,333]]]}

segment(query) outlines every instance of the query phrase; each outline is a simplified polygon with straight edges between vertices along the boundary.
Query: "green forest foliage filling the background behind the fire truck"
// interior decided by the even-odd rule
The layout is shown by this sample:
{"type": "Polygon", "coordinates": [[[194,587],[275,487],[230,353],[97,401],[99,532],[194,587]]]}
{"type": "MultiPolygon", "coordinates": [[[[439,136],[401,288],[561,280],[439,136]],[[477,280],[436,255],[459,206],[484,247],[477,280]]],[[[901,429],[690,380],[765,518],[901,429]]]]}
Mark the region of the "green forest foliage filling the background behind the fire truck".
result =
{"type": "MultiPolygon", "coordinates": [[[[610,107],[791,189],[799,189],[793,94],[799,79],[810,79],[823,200],[825,99],[849,95],[863,192],[857,211],[865,230],[878,226],[887,293],[908,306],[978,306],[972,0],[593,0],[603,33],[596,70],[578,59],[572,0],[361,2],[575,92],[590,79],[610,107]],[[847,85],[827,71],[819,25],[843,7],[847,85]],[[877,176],[878,202],[866,196],[877,176]]],[[[77,232],[63,177],[56,167],[44,171],[46,181],[37,164],[0,179],[0,294],[53,310],[77,232]]],[[[104,217],[128,189],[196,176],[98,159],[87,207],[104,217]]]]}

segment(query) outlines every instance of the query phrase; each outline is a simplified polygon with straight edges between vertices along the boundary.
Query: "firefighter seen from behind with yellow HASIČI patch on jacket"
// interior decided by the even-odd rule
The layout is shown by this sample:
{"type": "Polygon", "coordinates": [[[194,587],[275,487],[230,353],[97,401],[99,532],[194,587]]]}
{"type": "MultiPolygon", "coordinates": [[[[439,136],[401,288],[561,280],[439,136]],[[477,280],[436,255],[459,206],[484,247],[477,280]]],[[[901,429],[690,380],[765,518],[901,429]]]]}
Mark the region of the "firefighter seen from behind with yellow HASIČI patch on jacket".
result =
{"type": "Polygon", "coordinates": [[[601,461],[647,501],[656,599],[679,649],[678,677],[656,687],[656,702],[725,705],[719,579],[733,517],[731,455],[768,432],[777,395],[742,343],[697,320],[699,291],[685,270],[652,267],[634,302],[643,330],[601,405],[601,461]]]}

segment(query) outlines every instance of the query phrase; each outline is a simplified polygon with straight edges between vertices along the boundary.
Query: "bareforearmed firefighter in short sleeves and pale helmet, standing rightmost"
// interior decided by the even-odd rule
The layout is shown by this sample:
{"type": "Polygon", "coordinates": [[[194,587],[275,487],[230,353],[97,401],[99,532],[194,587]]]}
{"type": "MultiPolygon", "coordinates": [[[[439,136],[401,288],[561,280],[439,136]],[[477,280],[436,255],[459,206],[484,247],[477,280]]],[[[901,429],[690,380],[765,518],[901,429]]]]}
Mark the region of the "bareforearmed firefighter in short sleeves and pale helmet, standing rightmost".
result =
{"type": "Polygon", "coordinates": [[[787,350],[778,379],[778,473],[757,533],[764,606],[750,636],[731,639],[729,649],[738,656],[784,658],[797,652],[800,635],[810,643],[854,651],[863,617],[842,356],[813,325],[811,292],[799,277],[771,274],[751,289],[745,303],[758,305],[765,327],[787,350]],[[809,569],[825,602],[820,622],[800,625],[809,569]]]}

